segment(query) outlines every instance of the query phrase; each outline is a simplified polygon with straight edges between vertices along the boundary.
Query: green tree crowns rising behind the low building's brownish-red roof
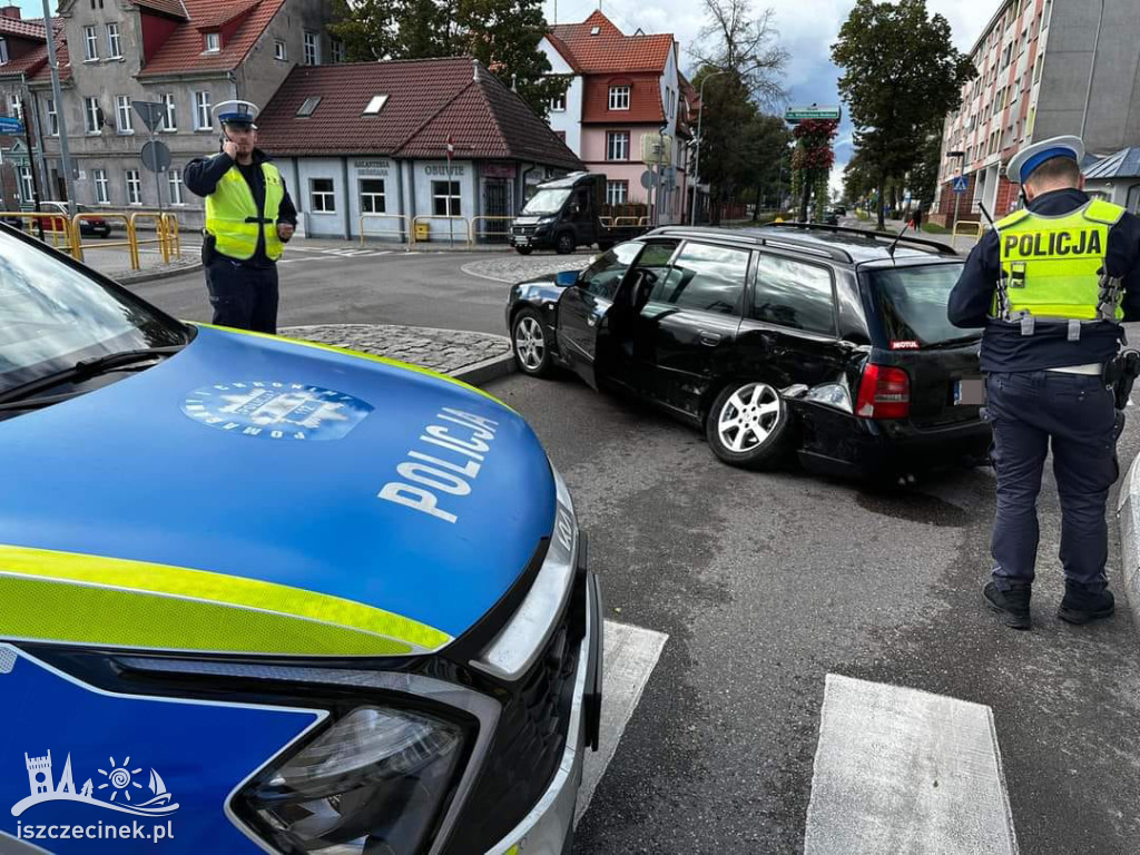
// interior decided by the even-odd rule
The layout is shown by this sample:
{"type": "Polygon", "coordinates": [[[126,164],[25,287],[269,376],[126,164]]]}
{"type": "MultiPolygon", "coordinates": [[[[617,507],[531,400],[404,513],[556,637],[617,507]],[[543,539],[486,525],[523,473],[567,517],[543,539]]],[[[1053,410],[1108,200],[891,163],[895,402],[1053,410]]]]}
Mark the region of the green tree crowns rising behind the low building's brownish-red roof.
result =
{"type": "Polygon", "coordinates": [[[473,56],[540,116],[569,85],[538,49],[540,0],[335,0],[334,11],[328,30],[351,60],[473,56]]]}

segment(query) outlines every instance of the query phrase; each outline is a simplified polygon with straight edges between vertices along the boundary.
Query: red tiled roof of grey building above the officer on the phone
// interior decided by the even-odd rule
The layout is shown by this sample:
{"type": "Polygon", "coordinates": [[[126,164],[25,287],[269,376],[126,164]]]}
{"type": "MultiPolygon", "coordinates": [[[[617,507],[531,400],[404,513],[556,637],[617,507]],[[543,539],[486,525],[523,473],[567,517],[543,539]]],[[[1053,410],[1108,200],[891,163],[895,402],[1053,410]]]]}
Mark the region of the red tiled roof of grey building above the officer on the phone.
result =
{"type": "MultiPolygon", "coordinates": [[[[154,2],[158,2],[158,0],[147,0],[148,6],[154,2]]],[[[166,3],[168,0],[162,0],[162,2],[166,3]]],[[[227,2],[227,0],[186,0],[185,6],[189,13],[189,23],[174,28],[165,43],[139,72],[139,78],[236,68],[245,59],[246,54],[269,26],[269,22],[272,21],[284,2],[285,0],[260,0],[256,3],[236,5],[227,2]],[[199,27],[217,27],[220,26],[220,23],[231,21],[235,17],[231,14],[235,9],[238,10],[238,14],[250,9],[249,16],[237,26],[233,35],[223,40],[220,51],[203,54],[205,44],[199,27]]]]}

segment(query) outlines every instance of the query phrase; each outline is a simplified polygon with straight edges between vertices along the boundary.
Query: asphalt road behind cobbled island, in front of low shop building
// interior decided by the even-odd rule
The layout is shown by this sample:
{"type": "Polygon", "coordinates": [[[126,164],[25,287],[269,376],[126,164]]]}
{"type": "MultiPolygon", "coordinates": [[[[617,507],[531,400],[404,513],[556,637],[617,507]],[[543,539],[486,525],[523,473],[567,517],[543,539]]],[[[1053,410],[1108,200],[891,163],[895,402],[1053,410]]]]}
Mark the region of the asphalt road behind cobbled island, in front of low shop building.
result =
{"type": "MultiPolygon", "coordinates": [[[[496,259],[511,261],[516,258],[513,254],[397,251],[386,255],[336,255],[291,250],[285,258],[288,263],[278,267],[279,326],[406,324],[506,333],[503,308],[510,286],[464,274],[461,268],[496,259]]],[[[555,256],[530,258],[545,262],[555,256]]],[[[588,255],[575,258],[583,267],[589,261],[588,255]]],[[[177,318],[211,318],[201,271],[131,288],[177,318]]]]}

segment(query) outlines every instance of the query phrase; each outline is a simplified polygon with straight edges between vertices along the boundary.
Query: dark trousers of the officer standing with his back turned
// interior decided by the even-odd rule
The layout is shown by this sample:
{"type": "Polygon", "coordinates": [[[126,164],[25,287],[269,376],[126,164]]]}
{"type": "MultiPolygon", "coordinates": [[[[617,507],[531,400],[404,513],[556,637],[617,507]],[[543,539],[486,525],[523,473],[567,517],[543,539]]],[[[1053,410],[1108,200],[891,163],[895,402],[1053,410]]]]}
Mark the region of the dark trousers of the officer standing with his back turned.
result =
{"type": "Polygon", "coordinates": [[[1119,474],[1113,392],[1100,376],[1051,370],[995,372],[986,392],[997,474],[994,581],[1002,591],[1033,583],[1037,492],[1051,445],[1065,578],[1100,591],[1107,584],[1105,506],[1119,474]]]}

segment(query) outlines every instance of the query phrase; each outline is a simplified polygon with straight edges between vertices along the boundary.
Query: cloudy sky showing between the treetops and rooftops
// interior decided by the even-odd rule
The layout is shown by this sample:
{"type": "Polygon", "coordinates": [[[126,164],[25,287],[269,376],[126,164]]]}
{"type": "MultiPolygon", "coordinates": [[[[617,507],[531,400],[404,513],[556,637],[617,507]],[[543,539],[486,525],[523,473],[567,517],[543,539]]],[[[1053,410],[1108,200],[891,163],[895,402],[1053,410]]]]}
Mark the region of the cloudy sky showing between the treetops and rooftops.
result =
{"type": "MultiPolygon", "coordinates": [[[[584,21],[597,0],[556,0],[557,21],[584,21]]],[[[555,19],[555,0],[545,0],[547,21],[555,19]]],[[[854,0],[754,0],[754,8],[772,8],[780,41],[791,54],[783,84],[792,104],[837,104],[839,72],[831,64],[831,44],[854,7],[854,0]]],[[[982,34],[999,0],[927,0],[930,11],[950,21],[954,43],[969,50],[982,34]]],[[[681,46],[681,67],[692,71],[689,49],[705,23],[702,0],[602,0],[605,13],[627,34],[641,27],[646,33],[673,33],[681,46]]],[[[836,140],[836,169],[831,186],[841,186],[842,166],[852,155],[852,127],[845,117],[836,140]]]]}

